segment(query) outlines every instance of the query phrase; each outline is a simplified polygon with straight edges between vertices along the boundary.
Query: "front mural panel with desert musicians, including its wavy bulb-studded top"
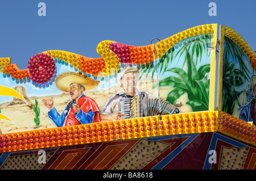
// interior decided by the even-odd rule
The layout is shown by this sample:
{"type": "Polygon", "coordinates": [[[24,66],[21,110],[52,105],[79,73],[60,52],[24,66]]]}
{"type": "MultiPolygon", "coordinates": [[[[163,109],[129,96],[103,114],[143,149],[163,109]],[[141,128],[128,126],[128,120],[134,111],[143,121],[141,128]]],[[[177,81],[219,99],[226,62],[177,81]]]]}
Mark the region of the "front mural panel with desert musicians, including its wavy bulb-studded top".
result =
{"type": "Polygon", "coordinates": [[[215,33],[212,24],[191,28],[156,48],[105,40],[97,46],[100,58],[47,50],[32,56],[26,70],[2,58],[0,129],[11,133],[208,111],[215,33]]]}

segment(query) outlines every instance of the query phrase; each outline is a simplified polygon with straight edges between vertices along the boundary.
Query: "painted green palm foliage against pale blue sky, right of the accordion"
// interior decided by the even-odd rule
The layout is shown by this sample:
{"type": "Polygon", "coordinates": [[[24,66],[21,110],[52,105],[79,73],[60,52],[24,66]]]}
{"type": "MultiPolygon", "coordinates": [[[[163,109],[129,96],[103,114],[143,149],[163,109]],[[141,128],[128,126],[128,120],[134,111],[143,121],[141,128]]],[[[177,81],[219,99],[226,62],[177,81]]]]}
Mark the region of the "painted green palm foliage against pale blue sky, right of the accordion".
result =
{"type": "MultiPolygon", "coordinates": [[[[186,104],[192,111],[209,110],[210,40],[211,34],[189,37],[176,43],[159,58],[159,75],[172,73],[159,81],[159,87],[173,88],[166,98],[171,104],[187,93],[186,104]],[[201,65],[206,58],[209,59],[208,64],[201,65]]],[[[144,69],[144,73],[148,73],[148,70],[144,69]]],[[[155,71],[156,66],[152,68],[152,76],[155,71]]]]}

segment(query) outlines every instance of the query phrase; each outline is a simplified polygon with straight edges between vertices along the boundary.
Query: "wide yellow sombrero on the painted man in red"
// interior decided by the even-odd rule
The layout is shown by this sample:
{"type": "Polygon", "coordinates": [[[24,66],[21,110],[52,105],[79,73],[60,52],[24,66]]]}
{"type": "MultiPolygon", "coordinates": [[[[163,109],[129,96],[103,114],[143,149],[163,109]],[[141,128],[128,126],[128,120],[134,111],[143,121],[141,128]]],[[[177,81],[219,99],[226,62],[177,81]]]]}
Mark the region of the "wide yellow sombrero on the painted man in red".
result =
{"type": "Polygon", "coordinates": [[[69,85],[71,83],[80,83],[84,86],[85,90],[90,90],[94,87],[97,87],[100,81],[96,81],[92,78],[82,75],[81,73],[72,71],[61,73],[57,75],[55,79],[55,85],[57,89],[64,92],[69,92],[69,85]]]}

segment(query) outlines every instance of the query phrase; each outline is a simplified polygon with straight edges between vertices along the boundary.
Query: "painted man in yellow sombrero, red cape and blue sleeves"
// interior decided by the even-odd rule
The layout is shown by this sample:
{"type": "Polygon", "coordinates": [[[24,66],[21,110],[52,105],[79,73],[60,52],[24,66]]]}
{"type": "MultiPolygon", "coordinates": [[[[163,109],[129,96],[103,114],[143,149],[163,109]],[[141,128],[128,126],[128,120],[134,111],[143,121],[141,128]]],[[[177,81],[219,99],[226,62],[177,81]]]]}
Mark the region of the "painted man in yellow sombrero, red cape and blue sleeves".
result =
{"type": "Polygon", "coordinates": [[[49,108],[48,116],[57,127],[100,122],[100,109],[97,103],[84,95],[85,90],[93,89],[98,81],[75,72],[61,73],[56,77],[56,87],[69,92],[71,102],[60,114],[53,104],[53,98],[42,99],[44,106],[49,108]]]}

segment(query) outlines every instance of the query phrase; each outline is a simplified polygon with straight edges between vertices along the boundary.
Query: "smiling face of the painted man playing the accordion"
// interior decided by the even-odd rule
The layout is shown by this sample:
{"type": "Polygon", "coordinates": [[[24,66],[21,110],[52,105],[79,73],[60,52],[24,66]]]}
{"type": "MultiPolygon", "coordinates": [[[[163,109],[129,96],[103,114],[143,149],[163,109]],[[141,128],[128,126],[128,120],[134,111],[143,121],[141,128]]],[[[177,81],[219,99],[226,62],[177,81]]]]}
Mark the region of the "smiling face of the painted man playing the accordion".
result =
{"type": "Polygon", "coordinates": [[[129,72],[123,75],[121,79],[122,87],[126,94],[135,94],[137,88],[138,77],[137,73],[129,72]]]}

